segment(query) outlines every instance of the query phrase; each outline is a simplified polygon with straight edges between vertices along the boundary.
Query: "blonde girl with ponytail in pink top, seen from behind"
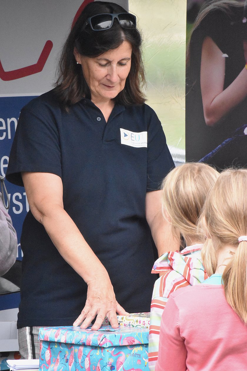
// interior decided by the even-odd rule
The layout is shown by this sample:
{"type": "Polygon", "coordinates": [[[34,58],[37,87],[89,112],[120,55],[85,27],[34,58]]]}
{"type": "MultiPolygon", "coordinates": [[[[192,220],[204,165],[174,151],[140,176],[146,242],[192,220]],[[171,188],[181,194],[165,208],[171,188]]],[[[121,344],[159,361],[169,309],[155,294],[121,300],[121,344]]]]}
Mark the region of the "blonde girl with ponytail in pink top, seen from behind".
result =
{"type": "Polygon", "coordinates": [[[164,309],[156,371],[246,370],[247,170],[225,170],[199,224],[210,275],[172,293],[164,309]]]}

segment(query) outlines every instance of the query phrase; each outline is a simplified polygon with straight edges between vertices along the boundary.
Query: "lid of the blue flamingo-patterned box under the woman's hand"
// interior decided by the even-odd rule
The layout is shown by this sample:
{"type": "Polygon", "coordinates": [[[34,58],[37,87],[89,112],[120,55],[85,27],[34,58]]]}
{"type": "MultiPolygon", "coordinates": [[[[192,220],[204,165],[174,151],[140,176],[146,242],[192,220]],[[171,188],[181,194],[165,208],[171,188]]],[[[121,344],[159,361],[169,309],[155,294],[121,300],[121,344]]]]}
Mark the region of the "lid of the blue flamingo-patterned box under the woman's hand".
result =
{"type": "Polygon", "coordinates": [[[91,347],[117,347],[123,345],[148,344],[147,328],[102,326],[98,331],[91,328],[82,330],[79,326],[40,328],[40,340],[69,344],[88,345],[91,347]]]}

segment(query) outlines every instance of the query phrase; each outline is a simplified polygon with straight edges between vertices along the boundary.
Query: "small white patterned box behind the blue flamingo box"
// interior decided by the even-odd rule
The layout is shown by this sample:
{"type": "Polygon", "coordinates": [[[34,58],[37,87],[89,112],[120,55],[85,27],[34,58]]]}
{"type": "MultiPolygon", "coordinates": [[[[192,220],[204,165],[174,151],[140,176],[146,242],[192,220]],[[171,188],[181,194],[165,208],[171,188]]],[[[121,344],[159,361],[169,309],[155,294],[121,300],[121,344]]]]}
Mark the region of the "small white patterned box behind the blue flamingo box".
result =
{"type": "MultiPolygon", "coordinates": [[[[130,313],[128,316],[117,316],[120,327],[140,327],[149,328],[150,312],[130,313]]],[[[103,325],[109,325],[110,322],[106,317],[103,325]]]]}

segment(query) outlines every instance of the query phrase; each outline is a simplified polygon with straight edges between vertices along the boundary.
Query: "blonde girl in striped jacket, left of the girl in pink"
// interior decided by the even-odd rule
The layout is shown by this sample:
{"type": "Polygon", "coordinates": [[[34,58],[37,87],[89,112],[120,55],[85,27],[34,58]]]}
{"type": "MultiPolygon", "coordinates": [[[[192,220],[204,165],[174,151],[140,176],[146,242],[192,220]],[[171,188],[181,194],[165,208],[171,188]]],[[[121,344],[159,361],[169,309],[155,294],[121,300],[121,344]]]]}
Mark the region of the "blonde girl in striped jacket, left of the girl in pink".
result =
{"type": "Polygon", "coordinates": [[[148,367],[153,371],[158,358],[161,316],[170,293],[196,285],[207,277],[201,261],[204,236],[197,233],[197,221],[206,196],[218,177],[207,164],[186,163],[173,169],[162,185],[164,218],[171,223],[174,236],[181,234],[186,248],[163,254],[154,263],[152,273],[160,278],[154,284],[148,346],[148,367]]]}

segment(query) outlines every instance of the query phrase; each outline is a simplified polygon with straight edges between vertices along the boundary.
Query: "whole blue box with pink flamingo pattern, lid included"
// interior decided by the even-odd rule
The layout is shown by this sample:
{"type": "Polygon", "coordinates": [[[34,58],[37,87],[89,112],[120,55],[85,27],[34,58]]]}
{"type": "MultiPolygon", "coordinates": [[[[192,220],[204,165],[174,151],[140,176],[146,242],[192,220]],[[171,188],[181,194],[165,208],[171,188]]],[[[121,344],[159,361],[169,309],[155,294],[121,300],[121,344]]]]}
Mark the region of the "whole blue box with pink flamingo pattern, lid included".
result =
{"type": "Polygon", "coordinates": [[[40,328],[40,371],[149,371],[148,329],[40,328]]]}

